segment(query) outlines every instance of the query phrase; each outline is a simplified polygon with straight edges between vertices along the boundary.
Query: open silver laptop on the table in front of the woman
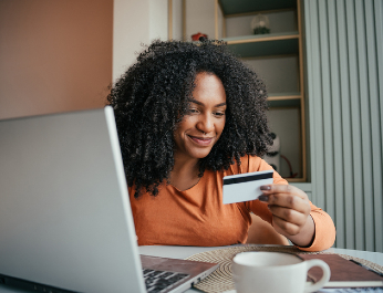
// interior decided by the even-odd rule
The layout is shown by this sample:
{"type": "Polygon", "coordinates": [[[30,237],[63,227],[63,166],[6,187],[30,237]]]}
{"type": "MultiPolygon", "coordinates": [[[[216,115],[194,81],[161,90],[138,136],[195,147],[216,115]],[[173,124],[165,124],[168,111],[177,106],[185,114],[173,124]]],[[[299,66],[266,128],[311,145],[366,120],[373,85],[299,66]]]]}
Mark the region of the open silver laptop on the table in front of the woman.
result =
{"type": "Polygon", "coordinates": [[[183,292],[216,268],[139,255],[112,107],[0,121],[0,284],[183,292]]]}

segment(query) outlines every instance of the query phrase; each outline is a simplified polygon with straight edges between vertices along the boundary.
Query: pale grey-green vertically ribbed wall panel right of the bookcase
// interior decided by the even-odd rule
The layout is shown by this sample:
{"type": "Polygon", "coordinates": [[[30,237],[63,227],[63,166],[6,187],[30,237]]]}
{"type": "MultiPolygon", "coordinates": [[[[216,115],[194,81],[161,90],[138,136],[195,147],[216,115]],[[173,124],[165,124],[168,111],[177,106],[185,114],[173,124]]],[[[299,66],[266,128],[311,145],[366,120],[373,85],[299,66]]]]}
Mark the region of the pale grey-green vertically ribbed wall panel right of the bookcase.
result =
{"type": "Polygon", "coordinates": [[[302,4],[311,200],[337,248],[383,252],[383,1],[302,4]]]}

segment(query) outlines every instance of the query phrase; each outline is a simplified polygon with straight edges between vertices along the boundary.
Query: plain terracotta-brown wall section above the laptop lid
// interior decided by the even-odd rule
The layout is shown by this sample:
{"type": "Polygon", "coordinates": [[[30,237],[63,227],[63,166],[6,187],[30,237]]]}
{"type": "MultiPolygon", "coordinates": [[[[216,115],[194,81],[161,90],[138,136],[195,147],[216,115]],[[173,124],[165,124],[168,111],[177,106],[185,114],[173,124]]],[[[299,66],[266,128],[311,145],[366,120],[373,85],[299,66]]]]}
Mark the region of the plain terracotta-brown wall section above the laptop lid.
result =
{"type": "Polygon", "coordinates": [[[0,118],[102,107],[113,0],[0,1],[0,118]]]}

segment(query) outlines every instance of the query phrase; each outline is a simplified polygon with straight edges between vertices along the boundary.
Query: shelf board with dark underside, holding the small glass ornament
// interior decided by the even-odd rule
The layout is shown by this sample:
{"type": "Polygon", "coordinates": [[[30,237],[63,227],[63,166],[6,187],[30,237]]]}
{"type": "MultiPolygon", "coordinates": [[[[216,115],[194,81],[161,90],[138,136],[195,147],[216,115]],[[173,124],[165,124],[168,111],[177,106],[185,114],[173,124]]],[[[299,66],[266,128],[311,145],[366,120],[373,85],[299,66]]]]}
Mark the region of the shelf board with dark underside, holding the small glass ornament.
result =
{"type": "Polygon", "coordinates": [[[298,54],[299,33],[270,33],[226,38],[228,48],[239,57],[298,54]]]}

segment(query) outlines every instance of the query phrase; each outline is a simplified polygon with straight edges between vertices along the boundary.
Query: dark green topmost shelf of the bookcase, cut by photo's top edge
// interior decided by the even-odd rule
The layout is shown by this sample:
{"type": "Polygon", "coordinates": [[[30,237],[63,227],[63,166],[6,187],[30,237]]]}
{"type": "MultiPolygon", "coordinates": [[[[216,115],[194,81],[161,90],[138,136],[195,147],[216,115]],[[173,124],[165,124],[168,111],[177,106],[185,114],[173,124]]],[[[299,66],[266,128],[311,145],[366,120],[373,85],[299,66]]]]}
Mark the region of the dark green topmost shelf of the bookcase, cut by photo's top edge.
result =
{"type": "Polygon", "coordinates": [[[297,0],[219,0],[225,17],[230,14],[249,13],[255,11],[275,10],[275,9],[294,9],[297,0]]]}

